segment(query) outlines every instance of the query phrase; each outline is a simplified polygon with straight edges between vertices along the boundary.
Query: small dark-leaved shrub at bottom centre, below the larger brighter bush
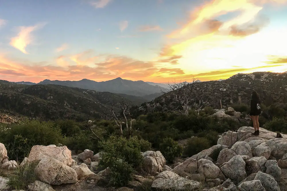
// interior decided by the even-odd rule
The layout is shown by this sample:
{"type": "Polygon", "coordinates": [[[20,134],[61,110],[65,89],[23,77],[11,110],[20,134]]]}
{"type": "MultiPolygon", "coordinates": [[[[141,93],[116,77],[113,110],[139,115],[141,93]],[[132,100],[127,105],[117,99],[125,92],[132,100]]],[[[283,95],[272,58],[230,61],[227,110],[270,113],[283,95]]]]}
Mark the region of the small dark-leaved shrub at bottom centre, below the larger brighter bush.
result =
{"type": "Polygon", "coordinates": [[[110,173],[108,174],[109,186],[123,187],[127,186],[134,173],[133,167],[127,162],[118,160],[114,161],[114,165],[110,166],[110,173]]]}

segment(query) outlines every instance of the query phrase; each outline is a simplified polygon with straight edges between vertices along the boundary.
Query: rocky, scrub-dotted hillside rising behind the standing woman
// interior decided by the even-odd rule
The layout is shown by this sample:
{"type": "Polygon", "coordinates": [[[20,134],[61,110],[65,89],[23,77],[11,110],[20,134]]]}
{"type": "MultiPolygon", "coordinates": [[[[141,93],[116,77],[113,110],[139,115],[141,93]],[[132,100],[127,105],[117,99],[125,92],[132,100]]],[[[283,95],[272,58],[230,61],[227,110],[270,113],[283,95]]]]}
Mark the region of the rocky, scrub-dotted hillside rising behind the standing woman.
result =
{"type": "MultiPolygon", "coordinates": [[[[188,84],[187,87],[191,87],[188,84]]],[[[272,72],[254,72],[252,74],[236,74],[222,81],[208,81],[196,83],[190,97],[191,103],[198,105],[203,92],[202,102],[209,101],[211,106],[220,108],[220,101],[223,107],[232,103],[250,103],[251,92],[256,90],[259,93],[261,102],[265,105],[272,103],[287,103],[287,74],[272,72]]],[[[168,92],[154,101],[141,107],[144,111],[158,111],[165,105],[174,105],[167,99],[168,92]]]]}

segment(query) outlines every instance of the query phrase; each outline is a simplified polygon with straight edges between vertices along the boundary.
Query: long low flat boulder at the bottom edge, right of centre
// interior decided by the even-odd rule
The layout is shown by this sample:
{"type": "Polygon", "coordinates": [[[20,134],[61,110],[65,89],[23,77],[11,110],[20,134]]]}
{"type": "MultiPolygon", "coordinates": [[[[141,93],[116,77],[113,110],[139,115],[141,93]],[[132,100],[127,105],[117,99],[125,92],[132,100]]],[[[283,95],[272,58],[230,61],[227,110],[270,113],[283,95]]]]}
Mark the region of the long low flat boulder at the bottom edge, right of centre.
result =
{"type": "Polygon", "coordinates": [[[163,179],[158,178],[152,183],[152,188],[160,190],[196,190],[200,186],[199,182],[183,177],[163,179]]]}

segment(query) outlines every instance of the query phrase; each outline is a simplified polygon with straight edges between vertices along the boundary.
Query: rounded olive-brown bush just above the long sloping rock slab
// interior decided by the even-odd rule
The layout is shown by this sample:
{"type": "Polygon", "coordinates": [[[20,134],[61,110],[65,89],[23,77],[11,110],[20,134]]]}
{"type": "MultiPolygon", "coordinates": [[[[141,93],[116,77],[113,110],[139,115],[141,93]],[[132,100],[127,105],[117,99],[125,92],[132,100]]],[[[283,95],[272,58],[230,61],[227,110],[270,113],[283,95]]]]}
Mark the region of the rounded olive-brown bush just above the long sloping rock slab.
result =
{"type": "Polygon", "coordinates": [[[187,141],[187,145],[183,149],[183,154],[186,157],[191,157],[210,147],[210,143],[205,137],[193,137],[187,141]]]}

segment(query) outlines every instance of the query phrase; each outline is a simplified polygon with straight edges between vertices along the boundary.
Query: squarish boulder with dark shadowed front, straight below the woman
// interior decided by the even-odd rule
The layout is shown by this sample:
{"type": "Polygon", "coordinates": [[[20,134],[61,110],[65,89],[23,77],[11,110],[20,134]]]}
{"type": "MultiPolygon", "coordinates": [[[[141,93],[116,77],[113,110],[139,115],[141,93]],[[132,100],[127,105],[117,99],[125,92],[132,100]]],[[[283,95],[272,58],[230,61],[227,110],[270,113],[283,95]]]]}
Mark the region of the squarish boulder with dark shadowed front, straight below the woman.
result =
{"type": "Polygon", "coordinates": [[[265,157],[253,157],[249,160],[246,160],[246,171],[247,174],[254,174],[258,171],[265,172],[266,167],[265,163],[267,159],[265,157]]]}

